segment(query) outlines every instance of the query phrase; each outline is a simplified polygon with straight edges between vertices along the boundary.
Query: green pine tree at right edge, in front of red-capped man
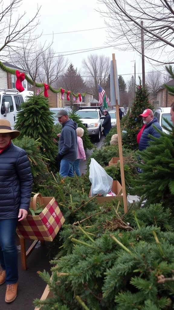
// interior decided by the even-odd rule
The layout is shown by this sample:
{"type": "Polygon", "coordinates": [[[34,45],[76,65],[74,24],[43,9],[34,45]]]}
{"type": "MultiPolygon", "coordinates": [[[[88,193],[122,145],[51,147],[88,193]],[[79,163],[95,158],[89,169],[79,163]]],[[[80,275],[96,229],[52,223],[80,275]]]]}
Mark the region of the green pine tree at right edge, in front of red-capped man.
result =
{"type": "Polygon", "coordinates": [[[160,132],[160,138],[152,137],[150,146],[138,153],[144,163],[135,191],[148,203],[163,203],[173,210],[174,206],[174,126],[166,120],[170,134],[160,132]],[[142,186],[143,185],[143,186],[142,186]]]}

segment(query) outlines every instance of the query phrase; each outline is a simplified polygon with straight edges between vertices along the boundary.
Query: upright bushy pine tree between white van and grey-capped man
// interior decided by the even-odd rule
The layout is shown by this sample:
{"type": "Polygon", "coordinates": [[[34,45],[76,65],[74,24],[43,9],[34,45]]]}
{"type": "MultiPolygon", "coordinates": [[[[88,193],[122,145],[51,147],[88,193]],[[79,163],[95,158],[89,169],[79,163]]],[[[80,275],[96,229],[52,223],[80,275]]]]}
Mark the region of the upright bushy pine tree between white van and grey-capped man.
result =
{"type": "Polygon", "coordinates": [[[28,136],[34,140],[40,139],[40,152],[48,159],[50,167],[54,170],[57,146],[54,143],[54,122],[49,110],[48,98],[43,95],[33,95],[21,105],[22,110],[18,112],[15,129],[20,131],[18,139],[28,136]]]}

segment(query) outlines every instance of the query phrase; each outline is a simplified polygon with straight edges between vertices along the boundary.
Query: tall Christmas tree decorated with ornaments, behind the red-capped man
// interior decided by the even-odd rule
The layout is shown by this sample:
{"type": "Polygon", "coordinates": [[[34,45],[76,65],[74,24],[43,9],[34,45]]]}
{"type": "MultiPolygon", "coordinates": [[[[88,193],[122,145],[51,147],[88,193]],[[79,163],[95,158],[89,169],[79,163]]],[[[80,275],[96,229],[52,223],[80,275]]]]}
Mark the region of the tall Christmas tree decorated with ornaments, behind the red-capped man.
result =
{"type": "Polygon", "coordinates": [[[135,100],[132,104],[131,111],[127,117],[124,117],[124,128],[127,133],[124,135],[123,143],[130,148],[138,148],[137,134],[143,126],[142,117],[139,117],[139,115],[147,108],[153,110],[154,106],[150,104],[147,90],[146,88],[142,88],[139,77],[139,85],[135,91],[135,100]]]}

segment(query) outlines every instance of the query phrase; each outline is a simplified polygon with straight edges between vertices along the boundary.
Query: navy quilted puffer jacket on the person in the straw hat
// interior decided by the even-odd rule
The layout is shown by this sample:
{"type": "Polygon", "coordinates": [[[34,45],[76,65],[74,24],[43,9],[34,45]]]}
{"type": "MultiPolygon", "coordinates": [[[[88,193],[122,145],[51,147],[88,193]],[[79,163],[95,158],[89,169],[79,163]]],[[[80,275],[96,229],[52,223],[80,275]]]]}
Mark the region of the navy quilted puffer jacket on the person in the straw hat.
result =
{"type": "Polygon", "coordinates": [[[28,210],[33,178],[26,152],[12,142],[0,154],[0,219],[17,218],[28,210]]]}

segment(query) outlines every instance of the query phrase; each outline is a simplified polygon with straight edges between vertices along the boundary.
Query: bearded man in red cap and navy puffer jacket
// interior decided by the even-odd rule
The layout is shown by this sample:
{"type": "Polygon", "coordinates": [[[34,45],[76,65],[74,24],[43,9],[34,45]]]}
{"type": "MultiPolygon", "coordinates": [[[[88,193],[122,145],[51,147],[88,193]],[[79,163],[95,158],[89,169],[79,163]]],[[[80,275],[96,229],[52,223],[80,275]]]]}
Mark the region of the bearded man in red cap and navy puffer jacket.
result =
{"type": "Polygon", "coordinates": [[[154,113],[152,110],[146,109],[139,116],[142,116],[143,123],[145,125],[145,127],[143,128],[141,132],[141,137],[139,140],[139,150],[143,151],[146,147],[149,146],[149,141],[151,140],[149,135],[153,135],[156,138],[160,137],[159,132],[156,131],[154,126],[156,126],[161,131],[162,131],[162,128],[159,125],[159,122],[157,118],[154,116],[154,113]]]}

